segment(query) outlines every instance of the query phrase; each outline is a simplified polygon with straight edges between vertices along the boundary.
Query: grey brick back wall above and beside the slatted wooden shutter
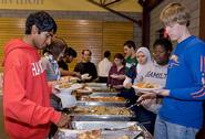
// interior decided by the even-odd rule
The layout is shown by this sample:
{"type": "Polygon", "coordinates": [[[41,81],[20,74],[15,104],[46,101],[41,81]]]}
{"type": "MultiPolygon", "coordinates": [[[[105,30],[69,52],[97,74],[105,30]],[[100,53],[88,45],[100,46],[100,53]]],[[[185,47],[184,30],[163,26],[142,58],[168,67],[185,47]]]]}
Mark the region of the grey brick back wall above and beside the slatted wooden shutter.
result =
{"type": "MultiPolygon", "coordinates": [[[[0,10],[0,18],[13,17],[25,18],[32,10],[0,10]]],[[[57,19],[71,19],[71,20],[95,20],[95,21],[127,21],[111,12],[82,12],[82,11],[48,11],[53,18],[57,19]]],[[[124,14],[139,20],[142,18],[141,13],[123,12],[124,14]]],[[[130,22],[130,21],[127,21],[130,22]]],[[[122,29],[123,30],[123,29],[122,29]]],[[[137,45],[142,44],[142,28],[134,24],[134,42],[137,45]]]]}

